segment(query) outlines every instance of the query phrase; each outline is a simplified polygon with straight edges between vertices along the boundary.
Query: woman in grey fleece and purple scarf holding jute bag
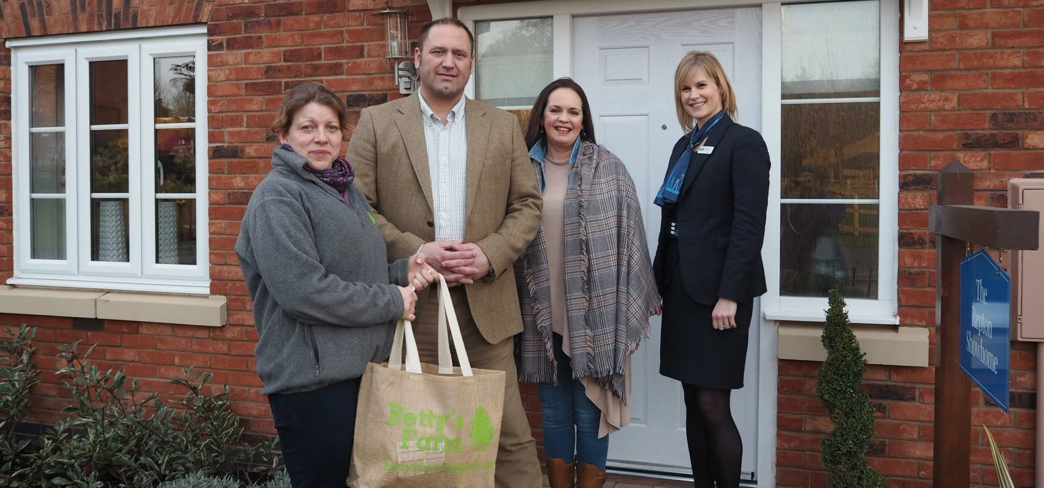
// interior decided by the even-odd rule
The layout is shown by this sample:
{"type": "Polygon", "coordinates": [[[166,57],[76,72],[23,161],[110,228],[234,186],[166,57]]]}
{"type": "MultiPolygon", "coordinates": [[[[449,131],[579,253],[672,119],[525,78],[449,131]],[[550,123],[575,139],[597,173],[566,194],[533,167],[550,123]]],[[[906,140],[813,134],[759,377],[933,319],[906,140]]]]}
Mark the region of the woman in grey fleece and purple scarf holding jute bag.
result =
{"type": "Polygon", "coordinates": [[[387,359],[414,289],[436,275],[423,255],[387,263],[365,196],[340,157],[347,109],[319,84],[293,89],[274,124],[282,146],[236,243],[258,330],[258,374],[293,488],[343,487],[359,377],[387,359]],[[412,278],[412,283],[410,283],[412,278]]]}

